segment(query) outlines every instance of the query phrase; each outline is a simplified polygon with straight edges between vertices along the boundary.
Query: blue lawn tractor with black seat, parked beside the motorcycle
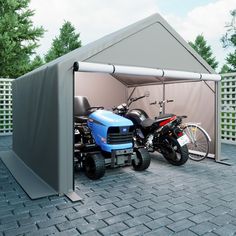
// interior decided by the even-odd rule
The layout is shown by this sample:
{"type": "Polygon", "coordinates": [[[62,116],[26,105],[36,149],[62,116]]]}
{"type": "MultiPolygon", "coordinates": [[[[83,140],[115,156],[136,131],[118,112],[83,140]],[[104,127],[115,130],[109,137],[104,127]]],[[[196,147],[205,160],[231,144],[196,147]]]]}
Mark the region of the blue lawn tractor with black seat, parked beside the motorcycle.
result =
{"type": "Polygon", "coordinates": [[[83,167],[90,179],[99,179],[106,166],[132,165],[142,171],[150,165],[145,148],[133,145],[132,121],[103,107],[91,107],[86,97],[74,99],[75,168],[83,167]]]}

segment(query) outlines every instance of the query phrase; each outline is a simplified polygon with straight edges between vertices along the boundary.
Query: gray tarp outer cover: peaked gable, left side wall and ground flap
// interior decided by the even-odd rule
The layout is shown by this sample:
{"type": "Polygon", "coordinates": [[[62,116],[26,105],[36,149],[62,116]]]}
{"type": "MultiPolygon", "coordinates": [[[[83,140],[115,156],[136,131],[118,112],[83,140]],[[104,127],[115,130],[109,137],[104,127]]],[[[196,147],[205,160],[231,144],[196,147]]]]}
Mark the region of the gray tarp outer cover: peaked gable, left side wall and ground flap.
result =
{"type": "Polygon", "coordinates": [[[74,187],[75,61],[214,73],[154,14],[16,79],[13,150],[1,157],[31,198],[67,193],[74,187]]]}

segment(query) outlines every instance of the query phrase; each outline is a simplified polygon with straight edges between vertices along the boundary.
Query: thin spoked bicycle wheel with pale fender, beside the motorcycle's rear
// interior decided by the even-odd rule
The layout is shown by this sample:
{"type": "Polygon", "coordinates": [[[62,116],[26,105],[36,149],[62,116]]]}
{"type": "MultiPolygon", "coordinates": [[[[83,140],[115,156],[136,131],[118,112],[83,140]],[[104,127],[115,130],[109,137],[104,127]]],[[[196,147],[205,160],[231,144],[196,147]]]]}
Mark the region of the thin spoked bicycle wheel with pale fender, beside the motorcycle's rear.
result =
{"type": "Polygon", "coordinates": [[[194,124],[187,124],[184,132],[190,140],[190,143],[187,144],[189,158],[194,161],[201,161],[207,157],[209,153],[209,140],[201,127],[194,124]]]}

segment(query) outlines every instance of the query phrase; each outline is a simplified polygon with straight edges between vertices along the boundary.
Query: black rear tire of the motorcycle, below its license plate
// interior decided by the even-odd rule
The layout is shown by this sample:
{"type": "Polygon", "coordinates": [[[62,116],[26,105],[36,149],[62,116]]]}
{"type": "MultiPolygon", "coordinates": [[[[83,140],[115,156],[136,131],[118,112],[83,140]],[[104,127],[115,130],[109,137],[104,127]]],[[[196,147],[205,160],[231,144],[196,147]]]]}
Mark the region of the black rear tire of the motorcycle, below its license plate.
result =
{"type": "Polygon", "coordinates": [[[170,146],[162,152],[164,158],[175,166],[185,164],[189,158],[187,145],[181,147],[175,138],[169,138],[168,142],[170,146]]]}

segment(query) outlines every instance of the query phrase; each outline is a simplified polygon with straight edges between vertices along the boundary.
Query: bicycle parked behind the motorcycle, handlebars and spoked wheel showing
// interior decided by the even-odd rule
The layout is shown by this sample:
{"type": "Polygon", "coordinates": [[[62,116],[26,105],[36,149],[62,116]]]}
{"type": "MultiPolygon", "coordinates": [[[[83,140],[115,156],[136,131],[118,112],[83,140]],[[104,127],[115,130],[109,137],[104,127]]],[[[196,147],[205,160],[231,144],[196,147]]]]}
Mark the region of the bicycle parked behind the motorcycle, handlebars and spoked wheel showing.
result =
{"type": "MultiPolygon", "coordinates": [[[[174,102],[174,100],[159,101],[159,115],[163,115],[163,106],[165,103],[174,102]]],[[[150,105],[156,105],[157,101],[151,102],[150,105]]],[[[187,116],[181,116],[187,118],[187,116]]],[[[208,156],[211,138],[210,135],[200,126],[200,123],[182,123],[181,128],[189,138],[187,144],[189,158],[194,161],[201,161],[208,156]]]]}

